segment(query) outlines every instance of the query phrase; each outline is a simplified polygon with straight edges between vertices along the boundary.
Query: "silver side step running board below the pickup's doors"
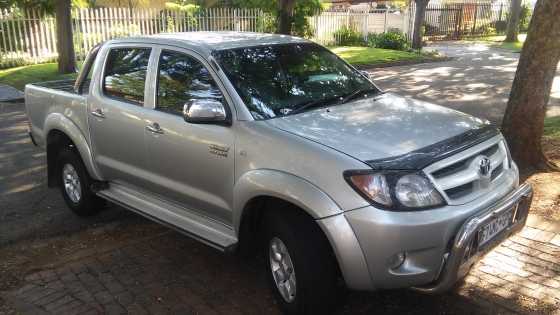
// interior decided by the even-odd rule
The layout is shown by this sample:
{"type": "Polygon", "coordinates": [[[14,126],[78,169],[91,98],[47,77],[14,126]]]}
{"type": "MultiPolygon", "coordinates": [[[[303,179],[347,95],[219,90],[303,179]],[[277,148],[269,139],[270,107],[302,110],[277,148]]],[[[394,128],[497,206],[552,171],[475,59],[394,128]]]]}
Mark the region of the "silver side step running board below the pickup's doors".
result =
{"type": "Polygon", "coordinates": [[[150,198],[145,193],[113,183],[96,191],[96,194],[220,251],[232,252],[236,248],[237,237],[233,229],[194,211],[150,198]]]}

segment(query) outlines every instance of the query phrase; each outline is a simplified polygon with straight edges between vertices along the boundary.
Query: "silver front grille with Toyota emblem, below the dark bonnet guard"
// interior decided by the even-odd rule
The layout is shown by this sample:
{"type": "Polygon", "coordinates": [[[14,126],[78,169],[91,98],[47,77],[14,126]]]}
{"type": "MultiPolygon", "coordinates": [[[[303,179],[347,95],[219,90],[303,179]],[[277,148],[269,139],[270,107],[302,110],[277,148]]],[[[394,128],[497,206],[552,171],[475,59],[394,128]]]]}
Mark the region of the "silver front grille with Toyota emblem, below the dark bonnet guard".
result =
{"type": "Polygon", "coordinates": [[[510,169],[506,144],[501,136],[471,147],[424,169],[450,205],[464,204],[499,185],[510,169]],[[484,161],[483,161],[484,160],[484,161]],[[489,163],[490,167],[483,165],[489,163]]]}

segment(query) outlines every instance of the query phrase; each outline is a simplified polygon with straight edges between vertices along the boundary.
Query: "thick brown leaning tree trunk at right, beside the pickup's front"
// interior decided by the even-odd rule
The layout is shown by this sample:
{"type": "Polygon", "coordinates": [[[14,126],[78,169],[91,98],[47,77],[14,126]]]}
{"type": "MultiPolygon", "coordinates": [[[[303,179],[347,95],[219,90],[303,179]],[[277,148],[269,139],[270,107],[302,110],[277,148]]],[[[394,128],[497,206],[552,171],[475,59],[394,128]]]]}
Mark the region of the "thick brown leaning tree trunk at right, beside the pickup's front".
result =
{"type": "Polygon", "coordinates": [[[503,133],[522,168],[550,169],[541,145],[544,118],[560,61],[560,1],[538,0],[521,51],[503,133]]]}

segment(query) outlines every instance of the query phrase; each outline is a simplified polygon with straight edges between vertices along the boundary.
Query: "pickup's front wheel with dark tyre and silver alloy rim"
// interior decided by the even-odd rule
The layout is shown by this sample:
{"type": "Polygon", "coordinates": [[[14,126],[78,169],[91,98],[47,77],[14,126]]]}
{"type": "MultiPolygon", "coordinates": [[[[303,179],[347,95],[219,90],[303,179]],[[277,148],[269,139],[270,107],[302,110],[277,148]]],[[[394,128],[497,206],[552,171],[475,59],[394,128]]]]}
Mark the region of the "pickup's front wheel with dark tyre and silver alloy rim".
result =
{"type": "Polygon", "coordinates": [[[338,269],[319,226],[293,209],[265,216],[264,257],[276,300],[287,314],[325,314],[340,299],[338,269]]]}

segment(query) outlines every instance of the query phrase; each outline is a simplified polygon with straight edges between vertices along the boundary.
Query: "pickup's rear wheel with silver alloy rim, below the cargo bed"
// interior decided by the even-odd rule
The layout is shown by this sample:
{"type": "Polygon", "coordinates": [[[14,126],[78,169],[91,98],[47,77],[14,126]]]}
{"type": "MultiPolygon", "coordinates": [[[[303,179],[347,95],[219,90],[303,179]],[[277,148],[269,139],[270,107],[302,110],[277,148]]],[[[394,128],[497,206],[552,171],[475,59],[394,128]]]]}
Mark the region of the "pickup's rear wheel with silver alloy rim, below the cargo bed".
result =
{"type": "Polygon", "coordinates": [[[63,149],[58,155],[57,170],[62,197],[75,214],[85,217],[101,211],[105,200],[91,191],[92,180],[76,151],[63,149]]]}

